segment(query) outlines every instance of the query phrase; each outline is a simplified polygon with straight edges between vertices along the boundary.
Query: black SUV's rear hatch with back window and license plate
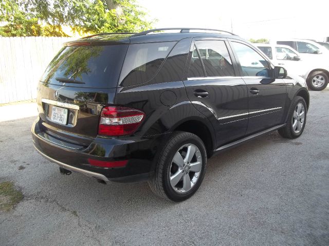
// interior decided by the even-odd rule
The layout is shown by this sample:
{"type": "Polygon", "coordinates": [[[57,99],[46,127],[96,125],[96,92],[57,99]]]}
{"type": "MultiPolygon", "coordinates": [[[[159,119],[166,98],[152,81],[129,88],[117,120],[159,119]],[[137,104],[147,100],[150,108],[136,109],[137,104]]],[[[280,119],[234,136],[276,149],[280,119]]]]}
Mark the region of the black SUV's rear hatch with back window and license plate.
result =
{"type": "Polygon", "coordinates": [[[100,112],[114,101],[129,44],[120,39],[69,42],[54,57],[38,86],[40,137],[87,146],[97,136],[100,112]]]}

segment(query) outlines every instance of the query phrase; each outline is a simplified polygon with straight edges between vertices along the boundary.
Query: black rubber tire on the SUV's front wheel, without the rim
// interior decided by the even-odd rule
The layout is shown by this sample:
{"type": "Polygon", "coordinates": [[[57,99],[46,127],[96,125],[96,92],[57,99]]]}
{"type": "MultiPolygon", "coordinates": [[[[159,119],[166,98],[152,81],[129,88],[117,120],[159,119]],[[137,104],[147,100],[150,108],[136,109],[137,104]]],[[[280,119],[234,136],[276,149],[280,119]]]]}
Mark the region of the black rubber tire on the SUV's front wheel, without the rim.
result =
{"type": "Polygon", "coordinates": [[[290,139],[298,138],[303,133],[303,130],[306,125],[306,118],[307,118],[307,107],[305,100],[302,97],[297,96],[294,98],[293,102],[291,102],[291,106],[288,111],[288,119],[286,125],[278,130],[279,134],[284,138],[290,138],[290,139]],[[305,117],[301,130],[298,133],[296,133],[296,131],[293,129],[293,120],[294,120],[294,111],[299,103],[302,103],[304,106],[305,117]]]}

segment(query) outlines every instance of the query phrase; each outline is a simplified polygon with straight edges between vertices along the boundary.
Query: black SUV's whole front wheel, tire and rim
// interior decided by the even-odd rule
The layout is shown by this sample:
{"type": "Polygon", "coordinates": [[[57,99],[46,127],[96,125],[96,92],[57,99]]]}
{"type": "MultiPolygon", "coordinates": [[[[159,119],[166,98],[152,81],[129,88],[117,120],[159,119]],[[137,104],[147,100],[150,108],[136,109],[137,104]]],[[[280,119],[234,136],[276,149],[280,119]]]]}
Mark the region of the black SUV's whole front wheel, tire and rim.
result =
{"type": "Polygon", "coordinates": [[[284,138],[298,138],[302,135],[306,124],[307,107],[302,97],[295,97],[288,112],[285,127],[280,128],[279,134],[284,138]]]}

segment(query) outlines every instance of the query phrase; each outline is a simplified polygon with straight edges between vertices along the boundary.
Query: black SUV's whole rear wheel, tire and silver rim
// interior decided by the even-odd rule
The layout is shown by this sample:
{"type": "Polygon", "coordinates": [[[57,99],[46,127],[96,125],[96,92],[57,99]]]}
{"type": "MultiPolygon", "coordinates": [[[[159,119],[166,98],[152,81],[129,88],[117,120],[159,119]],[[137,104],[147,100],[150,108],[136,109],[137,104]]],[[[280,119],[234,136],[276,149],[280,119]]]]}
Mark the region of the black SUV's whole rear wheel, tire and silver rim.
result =
{"type": "Polygon", "coordinates": [[[202,183],[206,162],[206,148],[199,137],[184,131],[174,132],[160,153],[149,181],[151,190],[175,202],[188,199],[202,183]]]}

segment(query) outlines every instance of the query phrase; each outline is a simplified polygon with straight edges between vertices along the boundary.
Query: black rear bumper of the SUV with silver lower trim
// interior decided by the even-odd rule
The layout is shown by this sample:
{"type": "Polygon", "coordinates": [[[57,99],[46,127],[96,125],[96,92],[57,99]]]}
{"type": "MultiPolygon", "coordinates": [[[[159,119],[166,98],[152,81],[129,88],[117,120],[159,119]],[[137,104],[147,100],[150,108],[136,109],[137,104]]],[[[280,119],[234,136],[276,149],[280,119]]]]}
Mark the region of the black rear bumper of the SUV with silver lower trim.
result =
{"type": "Polygon", "coordinates": [[[126,136],[121,138],[96,137],[89,146],[76,149],[59,139],[47,138],[38,118],[32,125],[32,139],[36,150],[51,162],[73,172],[104,181],[135,182],[147,180],[153,172],[153,163],[161,142],[168,134],[148,138],[126,136]],[[59,144],[61,143],[61,144],[59,144]],[[88,159],[100,161],[127,160],[124,167],[97,167],[88,159]]]}

